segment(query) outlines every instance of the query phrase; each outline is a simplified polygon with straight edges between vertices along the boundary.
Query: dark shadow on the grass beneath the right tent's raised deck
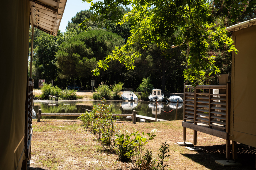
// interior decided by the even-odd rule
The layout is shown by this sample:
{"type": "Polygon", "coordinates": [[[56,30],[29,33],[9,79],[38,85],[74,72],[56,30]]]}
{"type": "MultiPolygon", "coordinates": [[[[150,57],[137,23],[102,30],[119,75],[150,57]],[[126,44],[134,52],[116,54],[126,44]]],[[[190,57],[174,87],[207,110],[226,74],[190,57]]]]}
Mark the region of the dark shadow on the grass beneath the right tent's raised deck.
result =
{"type": "MultiPolygon", "coordinates": [[[[225,155],[226,145],[204,146],[202,148],[205,150],[197,153],[191,151],[191,154],[182,155],[211,170],[255,170],[255,148],[253,147],[237,144],[237,162],[242,165],[232,167],[223,167],[215,163],[215,160],[227,160],[225,155]]],[[[230,158],[232,159],[232,145],[230,158]]]]}

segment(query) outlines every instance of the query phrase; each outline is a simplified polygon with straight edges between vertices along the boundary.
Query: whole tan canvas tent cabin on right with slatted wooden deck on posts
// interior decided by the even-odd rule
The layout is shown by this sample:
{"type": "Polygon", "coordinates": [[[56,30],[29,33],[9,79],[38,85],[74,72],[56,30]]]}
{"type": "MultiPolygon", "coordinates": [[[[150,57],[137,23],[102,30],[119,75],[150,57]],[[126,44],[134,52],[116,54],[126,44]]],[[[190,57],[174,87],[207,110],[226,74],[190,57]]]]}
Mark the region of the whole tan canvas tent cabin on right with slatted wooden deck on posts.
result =
{"type": "MultiPolygon", "coordinates": [[[[232,52],[230,82],[192,87],[184,84],[183,140],[186,128],[226,140],[226,158],[237,160],[237,142],[256,147],[256,18],[226,28],[232,32],[237,54],[232,52]],[[216,94],[214,91],[218,90],[216,94]]],[[[226,76],[229,79],[229,76],[226,76]]]]}

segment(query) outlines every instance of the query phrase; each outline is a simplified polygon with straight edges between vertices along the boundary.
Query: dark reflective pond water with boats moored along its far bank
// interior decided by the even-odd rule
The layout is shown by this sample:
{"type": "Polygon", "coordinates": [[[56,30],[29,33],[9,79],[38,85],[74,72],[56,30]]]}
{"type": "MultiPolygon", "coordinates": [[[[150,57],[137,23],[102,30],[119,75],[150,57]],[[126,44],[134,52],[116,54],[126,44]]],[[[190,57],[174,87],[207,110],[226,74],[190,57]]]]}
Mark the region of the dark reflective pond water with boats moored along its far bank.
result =
{"type": "MultiPolygon", "coordinates": [[[[34,110],[38,113],[38,109],[42,109],[42,113],[84,113],[85,109],[92,110],[93,105],[100,101],[83,101],[83,100],[35,100],[34,110]]],[[[107,101],[106,104],[111,106],[110,111],[113,114],[132,114],[136,110],[136,114],[155,118],[155,103],[154,102],[126,102],[126,101],[107,101]]],[[[157,106],[157,118],[165,120],[175,120],[176,103],[159,102],[157,106]],[[173,108],[175,108],[173,110],[173,108]],[[164,111],[167,112],[164,112],[164,111]],[[173,110],[173,111],[171,111],[173,110]],[[171,112],[168,112],[171,111],[171,112]]],[[[77,119],[78,116],[42,116],[41,118],[51,119],[77,119]]],[[[125,117],[120,117],[121,120],[126,120],[125,117]]],[[[183,119],[183,103],[178,104],[177,119],[183,119]]]]}

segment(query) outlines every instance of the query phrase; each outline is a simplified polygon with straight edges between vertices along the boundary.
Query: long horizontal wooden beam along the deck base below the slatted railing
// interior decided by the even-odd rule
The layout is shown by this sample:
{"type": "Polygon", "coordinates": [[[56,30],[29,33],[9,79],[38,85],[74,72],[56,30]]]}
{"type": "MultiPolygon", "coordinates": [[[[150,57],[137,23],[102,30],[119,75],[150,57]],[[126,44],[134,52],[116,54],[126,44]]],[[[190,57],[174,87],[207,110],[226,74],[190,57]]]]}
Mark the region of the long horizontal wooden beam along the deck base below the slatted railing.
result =
{"type": "MultiPolygon", "coordinates": [[[[200,122],[200,123],[202,123],[202,122],[200,122]]],[[[210,129],[206,126],[200,126],[200,125],[189,123],[189,122],[182,122],[182,126],[187,127],[189,129],[192,129],[192,130],[202,132],[202,133],[213,135],[215,137],[219,137],[219,138],[222,138],[222,139],[227,139],[227,133],[225,131],[210,129]]]]}

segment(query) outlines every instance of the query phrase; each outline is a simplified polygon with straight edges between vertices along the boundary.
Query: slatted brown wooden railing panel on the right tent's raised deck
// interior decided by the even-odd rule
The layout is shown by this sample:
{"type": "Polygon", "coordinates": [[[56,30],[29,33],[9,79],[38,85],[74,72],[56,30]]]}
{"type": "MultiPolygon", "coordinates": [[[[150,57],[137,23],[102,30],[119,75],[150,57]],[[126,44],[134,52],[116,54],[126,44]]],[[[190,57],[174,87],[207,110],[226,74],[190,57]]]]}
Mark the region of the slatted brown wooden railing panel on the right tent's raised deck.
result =
{"type": "Polygon", "coordinates": [[[196,88],[184,84],[184,122],[207,124],[229,132],[230,84],[197,85],[196,88]],[[213,90],[218,89],[219,94],[213,90]]]}

